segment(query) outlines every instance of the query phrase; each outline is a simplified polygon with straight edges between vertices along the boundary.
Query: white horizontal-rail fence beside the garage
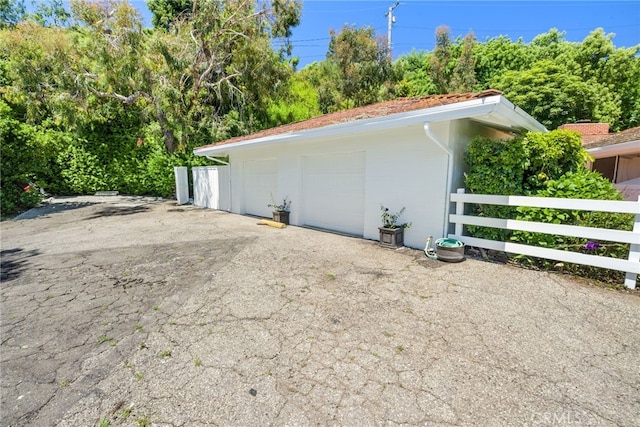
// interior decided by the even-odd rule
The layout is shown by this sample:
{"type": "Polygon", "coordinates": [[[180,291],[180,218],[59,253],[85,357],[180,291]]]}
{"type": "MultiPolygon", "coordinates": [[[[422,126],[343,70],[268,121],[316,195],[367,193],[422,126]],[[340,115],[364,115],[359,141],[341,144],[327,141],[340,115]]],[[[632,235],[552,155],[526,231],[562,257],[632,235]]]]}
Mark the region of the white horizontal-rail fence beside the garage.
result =
{"type": "Polygon", "coordinates": [[[464,189],[458,189],[456,194],[451,194],[451,201],[456,203],[456,213],[449,216],[449,221],[455,223],[455,233],[450,234],[449,237],[458,239],[466,245],[538,258],[546,258],[561,262],[571,262],[575,264],[624,271],[627,273],[624,283],[625,286],[630,289],[635,289],[636,287],[637,276],[640,274],[640,197],[637,202],[623,202],[609,200],[560,199],[550,197],[465,194],[464,189]],[[477,217],[465,215],[465,203],[630,213],[635,214],[635,222],[633,225],[633,231],[622,231],[605,228],[579,227],[574,225],[518,221],[513,219],[477,217]],[[505,230],[573,236],[592,240],[605,240],[609,242],[630,243],[631,247],[628,259],[617,259],[598,255],[589,255],[586,253],[464,236],[463,226],[465,224],[502,228],[505,230]]]}

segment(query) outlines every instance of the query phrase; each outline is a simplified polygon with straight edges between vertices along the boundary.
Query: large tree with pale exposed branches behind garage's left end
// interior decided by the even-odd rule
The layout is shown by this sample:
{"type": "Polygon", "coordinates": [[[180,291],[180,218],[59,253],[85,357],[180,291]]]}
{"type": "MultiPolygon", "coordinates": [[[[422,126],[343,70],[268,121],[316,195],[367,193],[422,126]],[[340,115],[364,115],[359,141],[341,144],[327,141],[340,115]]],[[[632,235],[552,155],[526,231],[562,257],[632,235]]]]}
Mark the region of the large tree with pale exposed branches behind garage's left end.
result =
{"type": "Polygon", "coordinates": [[[195,3],[189,20],[148,37],[127,3],[115,3],[110,13],[75,0],[90,50],[99,53],[93,72],[82,75],[84,88],[142,108],[158,124],[168,152],[229,136],[228,129],[259,128],[274,88],[292,73],[270,41],[290,34],[287,26],[297,24],[300,6],[278,4],[276,15],[253,1],[195,3]],[[242,125],[228,126],[234,117],[242,125]]]}

